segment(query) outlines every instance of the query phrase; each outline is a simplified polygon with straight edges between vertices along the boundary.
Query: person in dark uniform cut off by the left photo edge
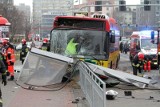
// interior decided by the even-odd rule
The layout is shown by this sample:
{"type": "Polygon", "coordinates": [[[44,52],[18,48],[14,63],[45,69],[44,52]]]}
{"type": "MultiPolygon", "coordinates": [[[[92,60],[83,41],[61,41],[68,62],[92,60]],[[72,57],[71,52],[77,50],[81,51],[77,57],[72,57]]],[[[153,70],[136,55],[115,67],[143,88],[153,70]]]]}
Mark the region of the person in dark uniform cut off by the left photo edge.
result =
{"type": "MultiPolygon", "coordinates": [[[[3,62],[3,56],[1,52],[0,52],[0,73],[2,75],[2,84],[6,86],[7,85],[6,66],[3,62]]],[[[0,88],[0,107],[3,107],[1,88],[0,88]]]]}

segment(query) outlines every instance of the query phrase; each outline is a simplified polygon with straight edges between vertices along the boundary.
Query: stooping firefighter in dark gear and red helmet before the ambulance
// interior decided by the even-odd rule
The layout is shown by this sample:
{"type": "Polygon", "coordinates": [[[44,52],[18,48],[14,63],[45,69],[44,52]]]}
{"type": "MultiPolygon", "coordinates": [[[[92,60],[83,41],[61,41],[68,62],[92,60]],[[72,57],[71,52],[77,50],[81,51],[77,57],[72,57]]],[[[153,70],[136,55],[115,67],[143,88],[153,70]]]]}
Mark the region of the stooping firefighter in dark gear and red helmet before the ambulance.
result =
{"type": "Polygon", "coordinates": [[[142,69],[145,63],[146,61],[145,61],[144,54],[142,52],[139,52],[138,54],[136,54],[133,57],[133,61],[132,61],[133,74],[137,75],[137,71],[139,71],[139,73],[142,73],[142,69]]]}

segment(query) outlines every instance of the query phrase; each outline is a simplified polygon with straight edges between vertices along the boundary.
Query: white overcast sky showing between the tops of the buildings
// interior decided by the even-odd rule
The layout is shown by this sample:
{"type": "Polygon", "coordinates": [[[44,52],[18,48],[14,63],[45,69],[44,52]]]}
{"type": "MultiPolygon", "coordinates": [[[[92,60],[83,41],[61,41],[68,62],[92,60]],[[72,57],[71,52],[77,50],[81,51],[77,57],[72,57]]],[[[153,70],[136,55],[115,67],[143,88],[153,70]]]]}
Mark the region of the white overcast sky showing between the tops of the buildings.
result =
{"type": "MultiPolygon", "coordinates": [[[[14,4],[25,3],[26,5],[32,5],[32,0],[14,0],[14,4]]],[[[139,4],[140,0],[126,0],[127,4],[139,4]]]]}

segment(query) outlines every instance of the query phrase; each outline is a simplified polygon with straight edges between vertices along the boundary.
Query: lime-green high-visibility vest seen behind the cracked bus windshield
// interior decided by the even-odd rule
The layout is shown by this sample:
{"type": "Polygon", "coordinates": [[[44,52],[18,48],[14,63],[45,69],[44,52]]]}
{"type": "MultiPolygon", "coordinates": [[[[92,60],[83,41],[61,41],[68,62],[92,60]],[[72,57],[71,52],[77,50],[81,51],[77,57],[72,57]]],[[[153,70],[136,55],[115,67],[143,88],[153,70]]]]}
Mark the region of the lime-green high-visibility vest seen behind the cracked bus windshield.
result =
{"type": "Polygon", "coordinates": [[[66,47],[66,50],[65,50],[65,54],[67,55],[75,55],[77,54],[77,51],[76,51],[76,46],[78,45],[78,43],[74,43],[74,38],[72,38],[67,47],[66,47]]]}

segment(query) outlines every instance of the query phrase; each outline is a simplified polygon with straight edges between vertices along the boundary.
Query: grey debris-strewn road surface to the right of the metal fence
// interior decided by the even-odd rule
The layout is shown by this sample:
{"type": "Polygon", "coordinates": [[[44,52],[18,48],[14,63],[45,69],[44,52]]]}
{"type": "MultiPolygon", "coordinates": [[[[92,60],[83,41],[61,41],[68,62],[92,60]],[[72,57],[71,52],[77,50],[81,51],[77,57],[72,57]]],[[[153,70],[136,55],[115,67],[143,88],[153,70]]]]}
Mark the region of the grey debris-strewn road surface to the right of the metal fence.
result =
{"type": "MultiPolygon", "coordinates": [[[[121,53],[119,69],[132,73],[128,54],[121,53]]],[[[158,80],[158,82],[160,81],[158,70],[151,70],[149,75],[158,80]]],[[[159,107],[160,105],[160,89],[139,89],[134,86],[127,86],[124,83],[114,88],[108,88],[107,90],[110,89],[117,91],[118,96],[115,100],[107,100],[107,107],[159,107]],[[125,96],[124,91],[131,91],[132,95],[125,96]]]]}

